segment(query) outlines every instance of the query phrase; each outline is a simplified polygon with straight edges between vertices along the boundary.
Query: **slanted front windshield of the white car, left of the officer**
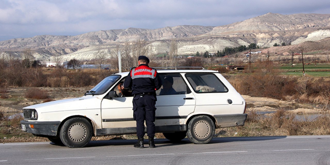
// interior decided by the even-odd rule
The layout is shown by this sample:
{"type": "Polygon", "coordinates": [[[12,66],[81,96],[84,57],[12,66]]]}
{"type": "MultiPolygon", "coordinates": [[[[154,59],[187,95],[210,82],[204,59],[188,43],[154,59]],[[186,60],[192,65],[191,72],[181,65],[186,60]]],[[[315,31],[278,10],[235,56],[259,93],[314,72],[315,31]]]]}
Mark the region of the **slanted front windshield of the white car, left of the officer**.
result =
{"type": "Polygon", "coordinates": [[[87,91],[86,95],[99,95],[105,93],[119,78],[119,75],[111,75],[106,77],[96,86],[94,86],[90,91],[87,91]]]}

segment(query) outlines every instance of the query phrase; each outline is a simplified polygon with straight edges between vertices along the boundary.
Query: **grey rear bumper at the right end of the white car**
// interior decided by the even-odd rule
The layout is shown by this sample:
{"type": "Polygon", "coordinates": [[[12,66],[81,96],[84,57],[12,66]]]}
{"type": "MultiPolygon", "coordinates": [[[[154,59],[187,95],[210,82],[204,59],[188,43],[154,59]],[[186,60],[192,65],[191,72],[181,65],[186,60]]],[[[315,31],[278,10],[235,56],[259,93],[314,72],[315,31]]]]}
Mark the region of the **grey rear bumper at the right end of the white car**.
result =
{"type": "Polygon", "coordinates": [[[216,128],[242,126],[248,114],[215,115],[216,128]]]}

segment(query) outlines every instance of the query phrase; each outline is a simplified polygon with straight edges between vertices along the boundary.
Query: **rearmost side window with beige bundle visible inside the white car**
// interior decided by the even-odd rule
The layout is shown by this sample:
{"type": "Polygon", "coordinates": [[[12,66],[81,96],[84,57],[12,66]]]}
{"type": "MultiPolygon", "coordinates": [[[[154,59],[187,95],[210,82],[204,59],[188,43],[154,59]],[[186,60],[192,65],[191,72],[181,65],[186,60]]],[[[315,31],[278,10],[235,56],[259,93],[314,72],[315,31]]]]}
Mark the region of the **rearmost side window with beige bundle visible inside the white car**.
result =
{"type": "Polygon", "coordinates": [[[196,93],[228,92],[228,88],[214,74],[185,74],[185,77],[196,93]]]}

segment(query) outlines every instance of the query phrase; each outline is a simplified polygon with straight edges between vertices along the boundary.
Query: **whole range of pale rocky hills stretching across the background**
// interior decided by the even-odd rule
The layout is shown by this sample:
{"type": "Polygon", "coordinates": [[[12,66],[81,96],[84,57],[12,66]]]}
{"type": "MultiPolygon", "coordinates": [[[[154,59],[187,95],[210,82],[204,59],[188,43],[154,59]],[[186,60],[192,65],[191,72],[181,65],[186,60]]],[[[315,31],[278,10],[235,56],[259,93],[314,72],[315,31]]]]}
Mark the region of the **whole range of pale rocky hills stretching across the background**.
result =
{"type": "MultiPolygon", "coordinates": [[[[179,54],[216,52],[225,47],[238,47],[256,43],[259,47],[272,47],[275,43],[297,45],[306,41],[320,41],[330,37],[330,14],[281,15],[267,13],[224,26],[182,25],[160,29],[116,29],[89,32],[77,36],[35,36],[0,42],[0,52],[14,51],[17,58],[22,51],[31,49],[37,59],[51,59],[62,55],[90,60],[99,50],[111,52],[124,43],[147,41],[150,54],[169,51],[172,40],[179,54]]],[[[14,55],[14,56],[15,56],[14,55]]]]}

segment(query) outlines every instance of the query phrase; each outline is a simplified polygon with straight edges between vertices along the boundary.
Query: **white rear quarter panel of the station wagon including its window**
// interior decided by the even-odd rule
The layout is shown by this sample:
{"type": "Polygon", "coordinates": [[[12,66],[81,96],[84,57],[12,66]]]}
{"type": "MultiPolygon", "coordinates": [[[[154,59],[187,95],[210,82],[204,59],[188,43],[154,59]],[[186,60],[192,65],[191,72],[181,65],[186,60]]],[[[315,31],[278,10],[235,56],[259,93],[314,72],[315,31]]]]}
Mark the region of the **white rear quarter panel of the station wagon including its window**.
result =
{"type": "Polygon", "coordinates": [[[197,100],[195,112],[210,115],[241,113],[237,111],[241,108],[236,107],[244,106],[244,99],[227,83],[231,89],[229,91],[214,73],[187,73],[185,77],[194,88],[197,100]]]}

